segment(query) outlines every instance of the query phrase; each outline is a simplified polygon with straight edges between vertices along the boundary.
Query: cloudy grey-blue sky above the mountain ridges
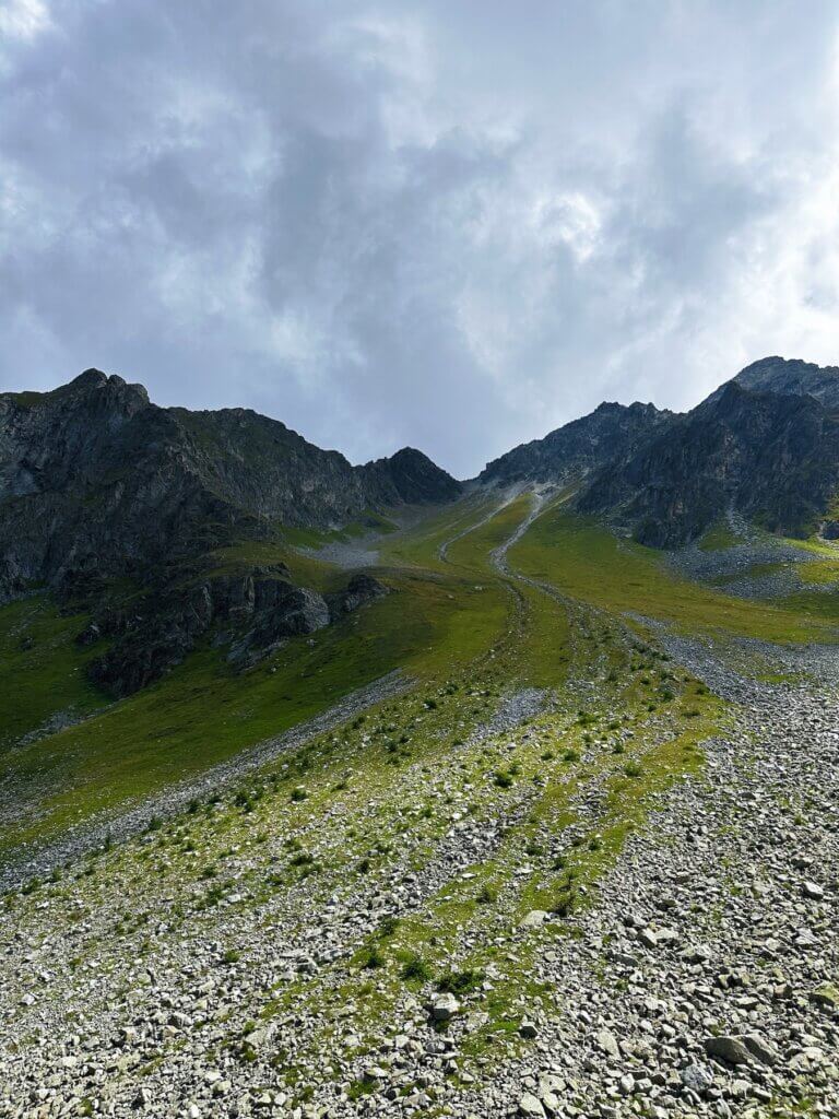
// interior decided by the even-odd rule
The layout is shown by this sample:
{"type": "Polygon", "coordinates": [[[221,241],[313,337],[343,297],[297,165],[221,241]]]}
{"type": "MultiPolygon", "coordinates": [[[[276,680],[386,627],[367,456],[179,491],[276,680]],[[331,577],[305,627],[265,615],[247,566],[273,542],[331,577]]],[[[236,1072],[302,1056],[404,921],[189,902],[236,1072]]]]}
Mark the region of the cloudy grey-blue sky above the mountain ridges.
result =
{"type": "Polygon", "coordinates": [[[830,0],[0,0],[0,391],[458,477],[839,365],[830,0]]]}

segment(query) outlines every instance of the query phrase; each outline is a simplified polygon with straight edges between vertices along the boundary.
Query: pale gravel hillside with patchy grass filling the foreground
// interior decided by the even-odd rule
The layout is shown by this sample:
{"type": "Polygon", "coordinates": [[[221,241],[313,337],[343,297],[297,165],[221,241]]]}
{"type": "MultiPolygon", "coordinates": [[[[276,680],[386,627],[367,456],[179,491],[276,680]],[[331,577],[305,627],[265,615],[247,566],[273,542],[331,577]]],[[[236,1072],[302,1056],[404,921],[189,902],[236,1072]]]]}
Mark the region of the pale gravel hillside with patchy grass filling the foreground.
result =
{"type": "Polygon", "coordinates": [[[487,655],[19,872],[0,1115],[837,1113],[836,647],[522,579],[541,507],[414,538],[487,655]]]}

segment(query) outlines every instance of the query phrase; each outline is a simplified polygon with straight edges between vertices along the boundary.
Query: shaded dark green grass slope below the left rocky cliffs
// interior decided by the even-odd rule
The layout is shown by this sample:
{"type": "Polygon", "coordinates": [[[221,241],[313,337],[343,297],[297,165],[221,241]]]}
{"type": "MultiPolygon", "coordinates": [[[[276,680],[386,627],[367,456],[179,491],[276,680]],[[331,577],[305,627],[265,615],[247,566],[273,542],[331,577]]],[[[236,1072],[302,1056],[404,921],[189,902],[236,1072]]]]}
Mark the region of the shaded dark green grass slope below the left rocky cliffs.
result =
{"type": "MultiPolygon", "coordinates": [[[[271,545],[253,547],[248,555],[232,549],[224,558],[235,566],[243,560],[287,557],[271,545]],[[249,554],[253,547],[260,548],[258,557],[249,554]]],[[[310,576],[324,590],[347,580],[305,557],[294,565],[295,574],[310,576]]],[[[78,726],[15,750],[4,763],[4,781],[15,797],[6,815],[13,817],[3,829],[0,852],[197,773],[394,668],[420,679],[442,678],[480,657],[505,629],[510,603],[497,584],[477,590],[456,574],[418,570],[378,574],[392,589],[389,595],[312,638],[290,641],[244,676],[234,675],[221,653],[207,647],[157,685],[78,726]]],[[[3,683],[9,685],[2,726],[15,737],[55,711],[87,712],[103,702],[84,678],[91,651],[72,641],[83,619],[59,619],[43,600],[22,606],[0,611],[3,683]],[[30,630],[41,650],[37,671],[34,653],[17,651],[30,630]]]]}

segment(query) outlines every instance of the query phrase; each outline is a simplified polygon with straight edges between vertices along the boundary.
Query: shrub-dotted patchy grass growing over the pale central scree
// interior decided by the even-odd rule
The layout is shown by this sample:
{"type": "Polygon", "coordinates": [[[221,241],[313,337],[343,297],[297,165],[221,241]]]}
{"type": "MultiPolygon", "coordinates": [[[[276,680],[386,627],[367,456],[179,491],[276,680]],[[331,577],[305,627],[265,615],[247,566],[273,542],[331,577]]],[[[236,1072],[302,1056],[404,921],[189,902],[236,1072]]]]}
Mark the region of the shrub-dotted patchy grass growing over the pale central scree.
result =
{"type": "MultiPolygon", "coordinates": [[[[488,552],[525,511],[525,502],[518,502],[475,528],[452,546],[447,565],[435,558],[433,526],[398,547],[405,562],[425,558],[441,577],[445,566],[454,572],[450,580],[468,573],[470,585],[484,587],[474,593],[486,602],[490,587],[501,590],[488,552]]],[[[472,519],[479,519],[479,510],[472,519]]],[[[451,593],[451,582],[437,585],[451,593]]],[[[503,594],[505,603],[518,601],[512,591],[503,594]]],[[[85,967],[106,972],[111,955],[150,950],[149,923],[159,912],[159,899],[178,899],[167,909],[171,934],[178,938],[217,935],[219,912],[229,925],[230,911],[216,906],[234,893],[248,896],[237,906],[276,905],[303,927],[336,891],[369,896],[396,859],[407,859],[414,871],[433,864],[439,845],[463,814],[488,825],[502,819],[503,834],[491,858],[432,891],[396,929],[358,943],[349,960],[305,981],[279,984],[260,1012],[267,1019],[282,1016],[301,998],[324,1006],[330,1024],[303,1038],[309,1060],[320,1066],[347,1046],[373,1056],[381,1032],[400,1021],[406,993],[427,995],[449,971],[468,976],[492,969],[491,993],[470,996],[488,1014],[464,1051],[464,1068],[480,1074],[473,1059],[493,1060],[524,1045],[517,1028],[522,994],[537,994],[534,961],[554,938],[573,932],[567,914],[557,913],[543,930],[522,938],[513,932],[522,916],[568,897],[572,909],[586,904],[581,887],[596,888],[625,836],[643,825],[651,798],[701,768],[697,744],[722,715],[704,688],[642,643],[628,645],[606,615],[576,618],[575,667],[595,684],[581,712],[581,700],[562,687],[571,639],[565,610],[528,589],[524,605],[503,617],[492,657],[466,664],[444,686],[425,684],[364,723],[322,736],[262,780],[248,780],[246,796],[226,797],[208,815],[201,810],[181,817],[144,843],[91,862],[36,892],[31,903],[46,890],[58,921],[78,896],[106,912],[112,934],[83,939],[77,957],[85,967]],[[615,667],[620,671],[610,670],[615,667]],[[556,709],[518,732],[472,744],[469,732],[492,712],[512,679],[558,686],[556,709]],[[632,732],[625,745],[623,730],[632,732]],[[293,802],[291,792],[300,782],[308,798],[293,802]],[[575,800],[591,782],[605,790],[594,818],[581,815],[575,800]],[[525,811],[516,812],[517,805],[525,811]],[[254,853],[253,865],[242,862],[254,853]],[[135,894],[138,882],[148,892],[126,906],[124,897],[135,894]],[[428,979],[403,974],[416,958],[428,979]]],[[[9,904],[22,909],[30,899],[10,899],[9,904]]],[[[271,909],[264,921],[273,921],[271,909]]],[[[244,967],[251,966],[251,947],[238,933],[230,944],[244,952],[244,967]]],[[[232,1044],[242,1037],[252,1009],[243,1007],[242,1021],[228,1023],[232,1044]]],[[[293,1062],[284,1062],[283,1075],[296,1091],[293,1062]]],[[[304,1092],[305,1082],[299,1088],[304,1092]]]]}

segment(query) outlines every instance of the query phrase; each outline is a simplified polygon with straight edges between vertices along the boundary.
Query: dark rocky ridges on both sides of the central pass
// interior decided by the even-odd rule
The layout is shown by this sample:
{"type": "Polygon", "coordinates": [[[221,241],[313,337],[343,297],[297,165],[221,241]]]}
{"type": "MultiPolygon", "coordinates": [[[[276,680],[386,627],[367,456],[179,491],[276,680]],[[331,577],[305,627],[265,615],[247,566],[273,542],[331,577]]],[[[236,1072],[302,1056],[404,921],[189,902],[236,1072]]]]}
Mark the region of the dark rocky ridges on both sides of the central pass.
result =
{"type": "MultiPolygon", "coordinates": [[[[575,485],[578,511],[654,547],[688,544],[729,510],[803,536],[832,524],[837,403],[839,370],[765,358],[685,414],[604,403],[490,462],[470,490],[575,485]]],[[[210,629],[246,668],[385,587],[348,585],[342,606],[253,563],[228,585],[213,573],[217,549],[462,492],[412,448],[351,466],[252,411],[158,407],[88,369],[49,393],[0,395],[0,602],[46,586],[92,612],[110,646],[91,673],[116,695],[210,629]]]]}

